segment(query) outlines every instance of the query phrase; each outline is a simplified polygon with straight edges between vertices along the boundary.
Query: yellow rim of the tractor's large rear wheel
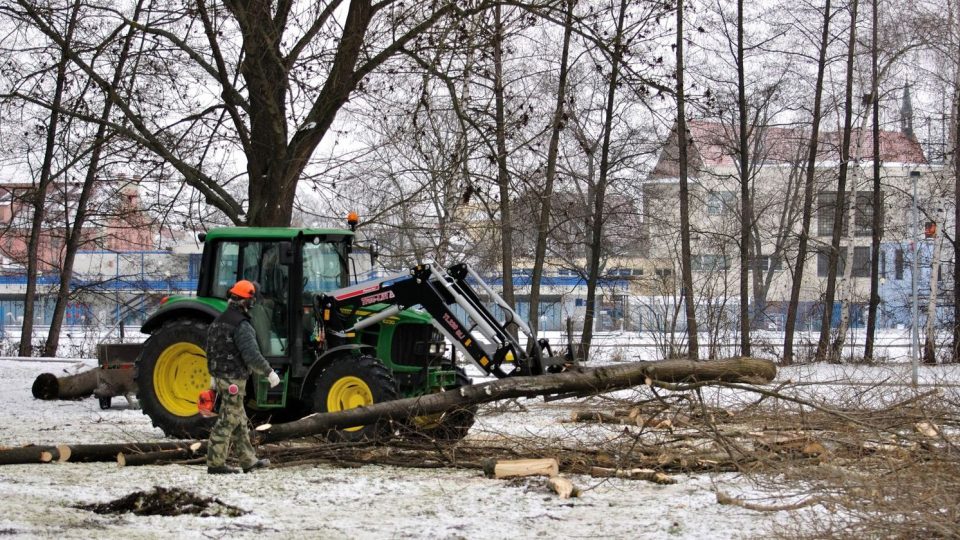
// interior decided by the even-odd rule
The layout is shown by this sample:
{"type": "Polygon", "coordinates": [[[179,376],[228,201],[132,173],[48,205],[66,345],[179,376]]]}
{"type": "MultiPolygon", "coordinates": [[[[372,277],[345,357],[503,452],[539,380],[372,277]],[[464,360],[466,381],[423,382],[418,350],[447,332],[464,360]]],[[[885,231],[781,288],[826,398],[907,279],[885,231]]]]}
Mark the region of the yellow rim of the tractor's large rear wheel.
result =
{"type": "Polygon", "coordinates": [[[200,392],[209,387],[207,355],[199,346],[174,343],[160,353],[153,370],[153,390],[167,412],[176,416],[198,414],[200,392]]]}

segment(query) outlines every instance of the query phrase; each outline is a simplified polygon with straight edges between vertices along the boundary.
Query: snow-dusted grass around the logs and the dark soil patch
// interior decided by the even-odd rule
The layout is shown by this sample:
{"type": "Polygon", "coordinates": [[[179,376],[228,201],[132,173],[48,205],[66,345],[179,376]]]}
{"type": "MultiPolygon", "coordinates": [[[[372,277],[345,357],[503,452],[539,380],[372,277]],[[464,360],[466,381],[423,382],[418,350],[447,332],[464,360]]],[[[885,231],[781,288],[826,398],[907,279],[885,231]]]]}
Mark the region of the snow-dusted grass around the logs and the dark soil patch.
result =
{"type": "MultiPolygon", "coordinates": [[[[97,400],[38,401],[34,378],[70,364],[0,360],[0,446],[159,440],[140,411],[97,400]]],[[[481,411],[470,437],[557,436],[558,411],[481,411]]],[[[472,470],[300,466],[208,476],[201,465],[119,468],[112,463],[0,466],[0,536],[13,538],[751,538],[791,521],[716,502],[733,475],[677,476],[674,485],[572,476],[580,498],[560,499],[542,479],[492,480],[472,470]],[[104,516],[74,508],[153,486],[179,487],[247,510],[241,517],[104,516]]]]}

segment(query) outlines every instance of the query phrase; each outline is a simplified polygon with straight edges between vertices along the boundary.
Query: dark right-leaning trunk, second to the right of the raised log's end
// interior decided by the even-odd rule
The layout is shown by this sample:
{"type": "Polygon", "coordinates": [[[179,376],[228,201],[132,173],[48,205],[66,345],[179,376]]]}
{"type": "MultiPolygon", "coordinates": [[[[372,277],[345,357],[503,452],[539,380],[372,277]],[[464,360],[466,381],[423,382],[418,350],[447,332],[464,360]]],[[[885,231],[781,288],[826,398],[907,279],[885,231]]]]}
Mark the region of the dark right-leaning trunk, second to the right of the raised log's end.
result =
{"type": "MultiPolygon", "coordinates": [[[[830,329],[833,326],[833,302],[837,291],[837,262],[840,259],[840,237],[843,233],[843,218],[847,190],[847,170],[850,166],[850,135],[853,124],[853,77],[854,52],[857,46],[857,7],[859,0],[853,0],[850,8],[850,37],[847,44],[847,78],[843,113],[843,142],[840,147],[840,175],[837,179],[837,197],[833,212],[833,236],[830,242],[829,273],[827,290],[823,300],[823,320],[820,326],[820,341],[817,343],[817,360],[825,360],[830,355],[830,329]]],[[[850,223],[853,227],[854,224],[850,223]]],[[[851,257],[852,259],[852,257],[851,257]]],[[[847,261],[852,264],[852,261],[847,261]]]]}

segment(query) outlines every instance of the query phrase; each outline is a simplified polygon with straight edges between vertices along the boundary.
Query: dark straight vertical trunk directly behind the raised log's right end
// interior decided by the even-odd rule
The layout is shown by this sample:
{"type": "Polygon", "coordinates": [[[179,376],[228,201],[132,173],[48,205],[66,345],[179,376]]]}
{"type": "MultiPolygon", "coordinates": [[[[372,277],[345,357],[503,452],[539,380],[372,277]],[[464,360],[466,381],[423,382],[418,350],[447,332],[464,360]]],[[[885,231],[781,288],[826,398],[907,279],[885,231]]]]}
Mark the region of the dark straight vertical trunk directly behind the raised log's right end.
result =
{"type": "Polygon", "coordinates": [[[743,58],[743,0],[737,0],[737,108],[740,121],[740,354],[750,356],[750,153],[747,132],[747,86],[743,58]]]}

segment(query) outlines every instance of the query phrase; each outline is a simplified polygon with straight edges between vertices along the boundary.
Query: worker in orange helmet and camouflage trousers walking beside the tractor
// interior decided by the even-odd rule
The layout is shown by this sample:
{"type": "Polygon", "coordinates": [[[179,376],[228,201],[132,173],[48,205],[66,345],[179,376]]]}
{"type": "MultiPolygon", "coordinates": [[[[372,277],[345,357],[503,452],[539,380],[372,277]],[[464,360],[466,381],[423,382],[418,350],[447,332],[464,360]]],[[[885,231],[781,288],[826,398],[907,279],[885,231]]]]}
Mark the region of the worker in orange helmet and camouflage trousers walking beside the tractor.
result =
{"type": "Polygon", "coordinates": [[[230,288],[226,311],[213,321],[207,332],[207,369],[220,398],[219,417],[207,444],[210,474],[240,472],[227,466],[231,447],[236,449],[243,472],[270,465],[270,460],[257,459],[243,408],[244,391],[251,373],[267,377],[271,388],[280,384],[280,377],[260,353],[256,332],[250,324],[249,311],[255,299],[256,286],[247,280],[238,281],[230,288]]]}

